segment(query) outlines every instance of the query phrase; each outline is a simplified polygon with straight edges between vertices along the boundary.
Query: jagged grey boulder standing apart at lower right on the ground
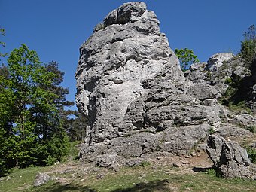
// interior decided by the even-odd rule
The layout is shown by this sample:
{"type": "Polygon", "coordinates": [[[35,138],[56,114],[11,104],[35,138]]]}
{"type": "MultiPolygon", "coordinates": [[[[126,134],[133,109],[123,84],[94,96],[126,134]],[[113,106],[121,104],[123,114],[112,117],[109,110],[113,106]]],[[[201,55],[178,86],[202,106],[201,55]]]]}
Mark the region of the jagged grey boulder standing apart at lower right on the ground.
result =
{"type": "Polygon", "coordinates": [[[255,178],[247,151],[236,142],[227,142],[221,136],[209,136],[206,151],[224,178],[255,178]]]}

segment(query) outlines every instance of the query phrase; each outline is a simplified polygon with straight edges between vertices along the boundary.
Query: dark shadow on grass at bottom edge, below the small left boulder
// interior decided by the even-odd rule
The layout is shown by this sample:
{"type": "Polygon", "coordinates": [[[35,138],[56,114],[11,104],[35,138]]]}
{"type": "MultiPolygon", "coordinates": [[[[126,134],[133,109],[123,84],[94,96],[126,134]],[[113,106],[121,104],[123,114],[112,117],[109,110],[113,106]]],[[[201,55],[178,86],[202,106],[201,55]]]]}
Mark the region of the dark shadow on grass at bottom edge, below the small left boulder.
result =
{"type": "Polygon", "coordinates": [[[78,192],[97,192],[97,190],[87,187],[87,186],[81,186],[78,184],[66,184],[61,185],[59,183],[55,183],[53,185],[50,185],[50,187],[44,187],[44,188],[38,188],[40,192],[66,192],[66,191],[78,191],[78,192]]]}

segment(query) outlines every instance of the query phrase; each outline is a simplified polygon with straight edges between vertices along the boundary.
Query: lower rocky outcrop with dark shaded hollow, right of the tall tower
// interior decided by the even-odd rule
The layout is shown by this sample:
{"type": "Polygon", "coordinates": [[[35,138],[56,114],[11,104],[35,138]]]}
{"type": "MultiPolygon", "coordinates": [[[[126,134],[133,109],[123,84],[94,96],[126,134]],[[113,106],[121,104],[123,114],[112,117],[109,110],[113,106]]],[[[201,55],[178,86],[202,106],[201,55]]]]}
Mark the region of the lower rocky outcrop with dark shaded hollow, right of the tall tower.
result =
{"type": "MultiPolygon", "coordinates": [[[[214,61],[212,57],[209,59],[211,62],[208,61],[207,64],[195,63],[184,75],[187,81],[194,84],[208,84],[214,87],[217,90],[217,98],[222,97],[224,103],[244,102],[251,111],[256,112],[256,59],[248,62],[241,56],[233,56],[231,53],[226,59],[215,70],[212,70],[212,64],[209,64],[214,61]]],[[[218,59],[215,62],[219,62],[218,59]]]]}

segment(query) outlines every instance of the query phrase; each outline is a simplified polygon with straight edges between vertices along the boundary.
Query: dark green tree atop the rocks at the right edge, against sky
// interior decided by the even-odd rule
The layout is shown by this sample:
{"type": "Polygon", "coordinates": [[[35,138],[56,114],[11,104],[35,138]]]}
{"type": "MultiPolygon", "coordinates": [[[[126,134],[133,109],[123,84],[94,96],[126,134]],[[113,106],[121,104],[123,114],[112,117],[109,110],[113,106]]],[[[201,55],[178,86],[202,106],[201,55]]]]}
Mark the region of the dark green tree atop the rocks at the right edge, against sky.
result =
{"type": "Polygon", "coordinates": [[[248,31],[243,33],[244,41],[241,43],[239,55],[247,62],[251,62],[256,56],[256,27],[249,26],[248,31]]]}

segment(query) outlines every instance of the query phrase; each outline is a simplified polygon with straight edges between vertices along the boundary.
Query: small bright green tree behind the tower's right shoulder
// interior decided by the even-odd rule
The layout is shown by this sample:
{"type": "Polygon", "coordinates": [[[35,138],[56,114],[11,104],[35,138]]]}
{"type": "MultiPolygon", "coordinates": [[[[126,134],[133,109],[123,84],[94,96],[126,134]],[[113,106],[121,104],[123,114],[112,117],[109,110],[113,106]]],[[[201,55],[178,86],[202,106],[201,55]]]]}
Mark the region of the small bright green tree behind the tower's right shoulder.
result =
{"type": "Polygon", "coordinates": [[[197,59],[197,56],[194,55],[193,50],[189,50],[187,48],[184,49],[175,49],[175,54],[178,56],[181,69],[187,70],[188,67],[193,64],[194,62],[200,62],[199,59],[197,59]]]}

